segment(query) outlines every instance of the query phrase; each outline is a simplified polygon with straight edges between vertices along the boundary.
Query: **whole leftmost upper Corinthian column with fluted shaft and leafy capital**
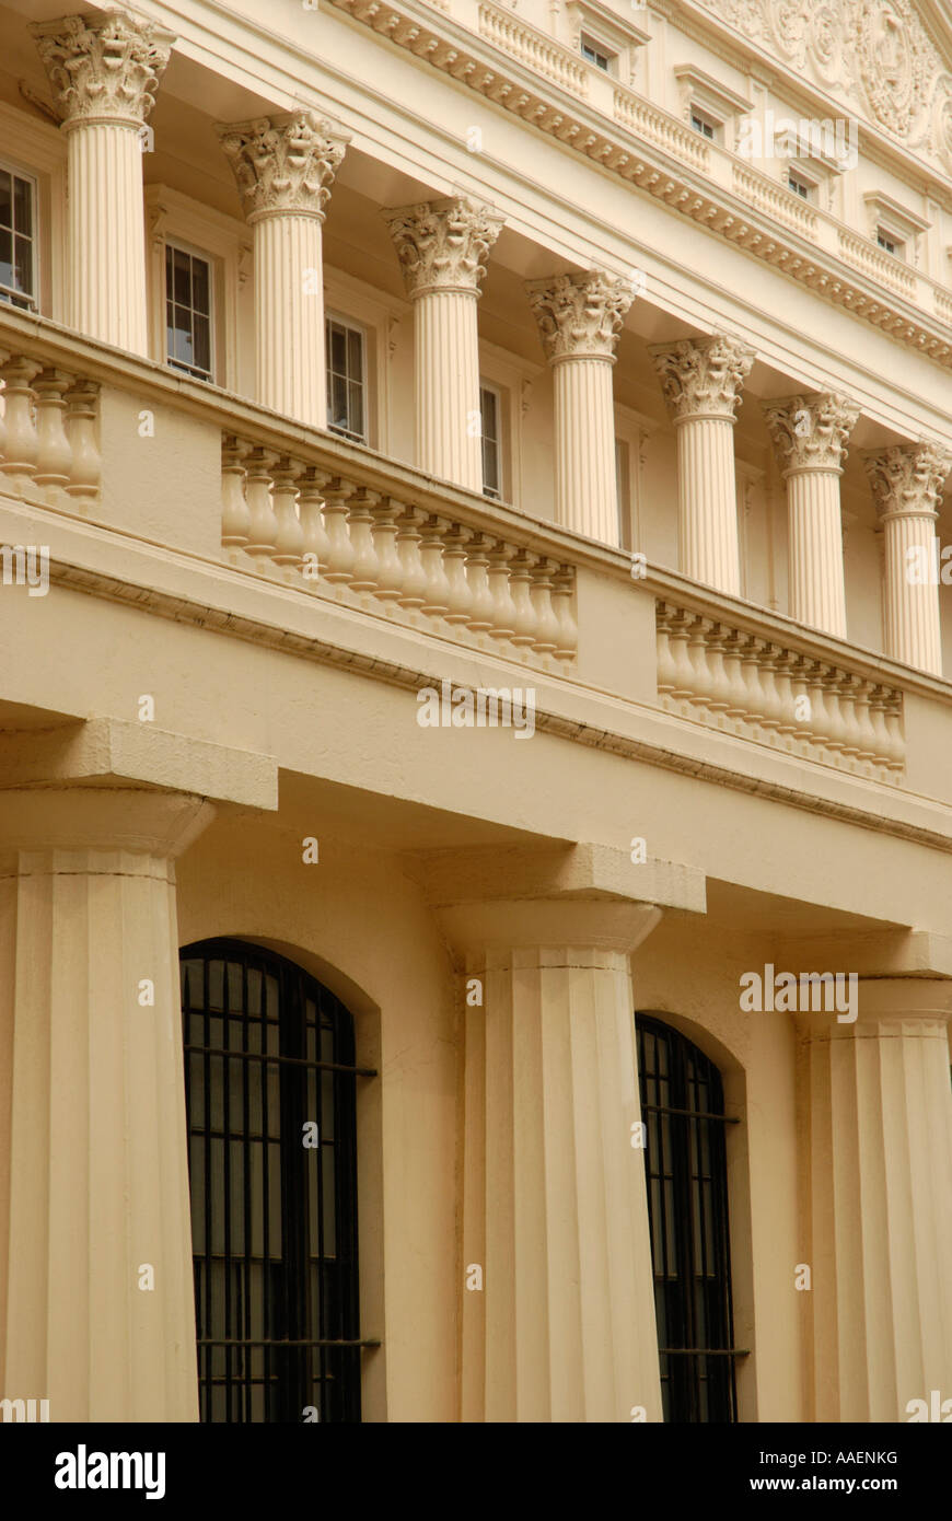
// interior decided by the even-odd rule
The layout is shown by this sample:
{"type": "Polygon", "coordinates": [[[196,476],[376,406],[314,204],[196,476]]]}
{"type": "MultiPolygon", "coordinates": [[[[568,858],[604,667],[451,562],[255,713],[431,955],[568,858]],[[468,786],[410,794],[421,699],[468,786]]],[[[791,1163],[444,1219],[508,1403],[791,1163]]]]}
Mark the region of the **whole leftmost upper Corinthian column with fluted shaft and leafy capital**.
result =
{"type": "Polygon", "coordinates": [[[148,353],[143,144],[175,37],[120,11],[30,26],[68,140],[67,321],[148,353]]]}

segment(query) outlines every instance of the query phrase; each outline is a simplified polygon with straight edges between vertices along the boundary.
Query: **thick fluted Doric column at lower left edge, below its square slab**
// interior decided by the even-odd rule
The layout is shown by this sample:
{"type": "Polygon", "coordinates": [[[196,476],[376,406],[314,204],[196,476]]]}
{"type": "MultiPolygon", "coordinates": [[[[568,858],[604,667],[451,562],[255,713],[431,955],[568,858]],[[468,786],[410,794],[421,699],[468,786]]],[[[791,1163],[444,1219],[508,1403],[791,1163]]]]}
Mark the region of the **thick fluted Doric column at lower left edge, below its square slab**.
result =
{"type": "Polygon", "coordinates": [[[198,1421],[178,792],[0,792],[0,1393],[198,1421]]]}

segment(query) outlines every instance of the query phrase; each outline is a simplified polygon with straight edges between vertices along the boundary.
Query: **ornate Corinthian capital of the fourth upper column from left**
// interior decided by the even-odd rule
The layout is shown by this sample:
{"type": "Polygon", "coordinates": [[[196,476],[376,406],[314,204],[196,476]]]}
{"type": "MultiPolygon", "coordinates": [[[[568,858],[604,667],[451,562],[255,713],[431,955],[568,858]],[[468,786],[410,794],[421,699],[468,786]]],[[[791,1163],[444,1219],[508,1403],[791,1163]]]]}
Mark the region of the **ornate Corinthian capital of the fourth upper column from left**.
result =
{"type": "Polygon", "coordinates": [[[552,364],[557,359],[614,359],[634,286],[620,275],[590,269],[526,283],[538,336],[552,364]]]}

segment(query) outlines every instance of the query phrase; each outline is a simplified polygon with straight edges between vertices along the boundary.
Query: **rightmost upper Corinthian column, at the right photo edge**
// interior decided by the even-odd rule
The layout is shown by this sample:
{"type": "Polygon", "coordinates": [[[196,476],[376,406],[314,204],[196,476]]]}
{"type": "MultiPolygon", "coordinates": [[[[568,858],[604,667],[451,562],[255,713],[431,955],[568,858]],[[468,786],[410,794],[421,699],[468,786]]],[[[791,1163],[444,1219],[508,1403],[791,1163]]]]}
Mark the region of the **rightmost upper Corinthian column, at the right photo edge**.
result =
{"type": "Polygon", "coordinates": [[[885,653],[941,675],[935,520],[952,455],[940,444],[902,444],[865,455],[885,535],[885,653]]]}

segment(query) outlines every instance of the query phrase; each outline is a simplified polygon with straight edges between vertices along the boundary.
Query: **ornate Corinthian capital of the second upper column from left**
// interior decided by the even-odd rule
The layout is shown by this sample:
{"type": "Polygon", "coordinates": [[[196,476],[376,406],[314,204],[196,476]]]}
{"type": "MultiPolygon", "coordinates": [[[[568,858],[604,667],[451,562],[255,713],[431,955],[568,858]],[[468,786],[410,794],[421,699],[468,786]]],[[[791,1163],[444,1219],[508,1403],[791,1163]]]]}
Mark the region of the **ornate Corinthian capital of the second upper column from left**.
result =
{"type": "Polygon", "coordinates": [[[324,221],[350,134],[313,111],[284,111],[216,126],[248,222],[280,211],[324,221]]]}

